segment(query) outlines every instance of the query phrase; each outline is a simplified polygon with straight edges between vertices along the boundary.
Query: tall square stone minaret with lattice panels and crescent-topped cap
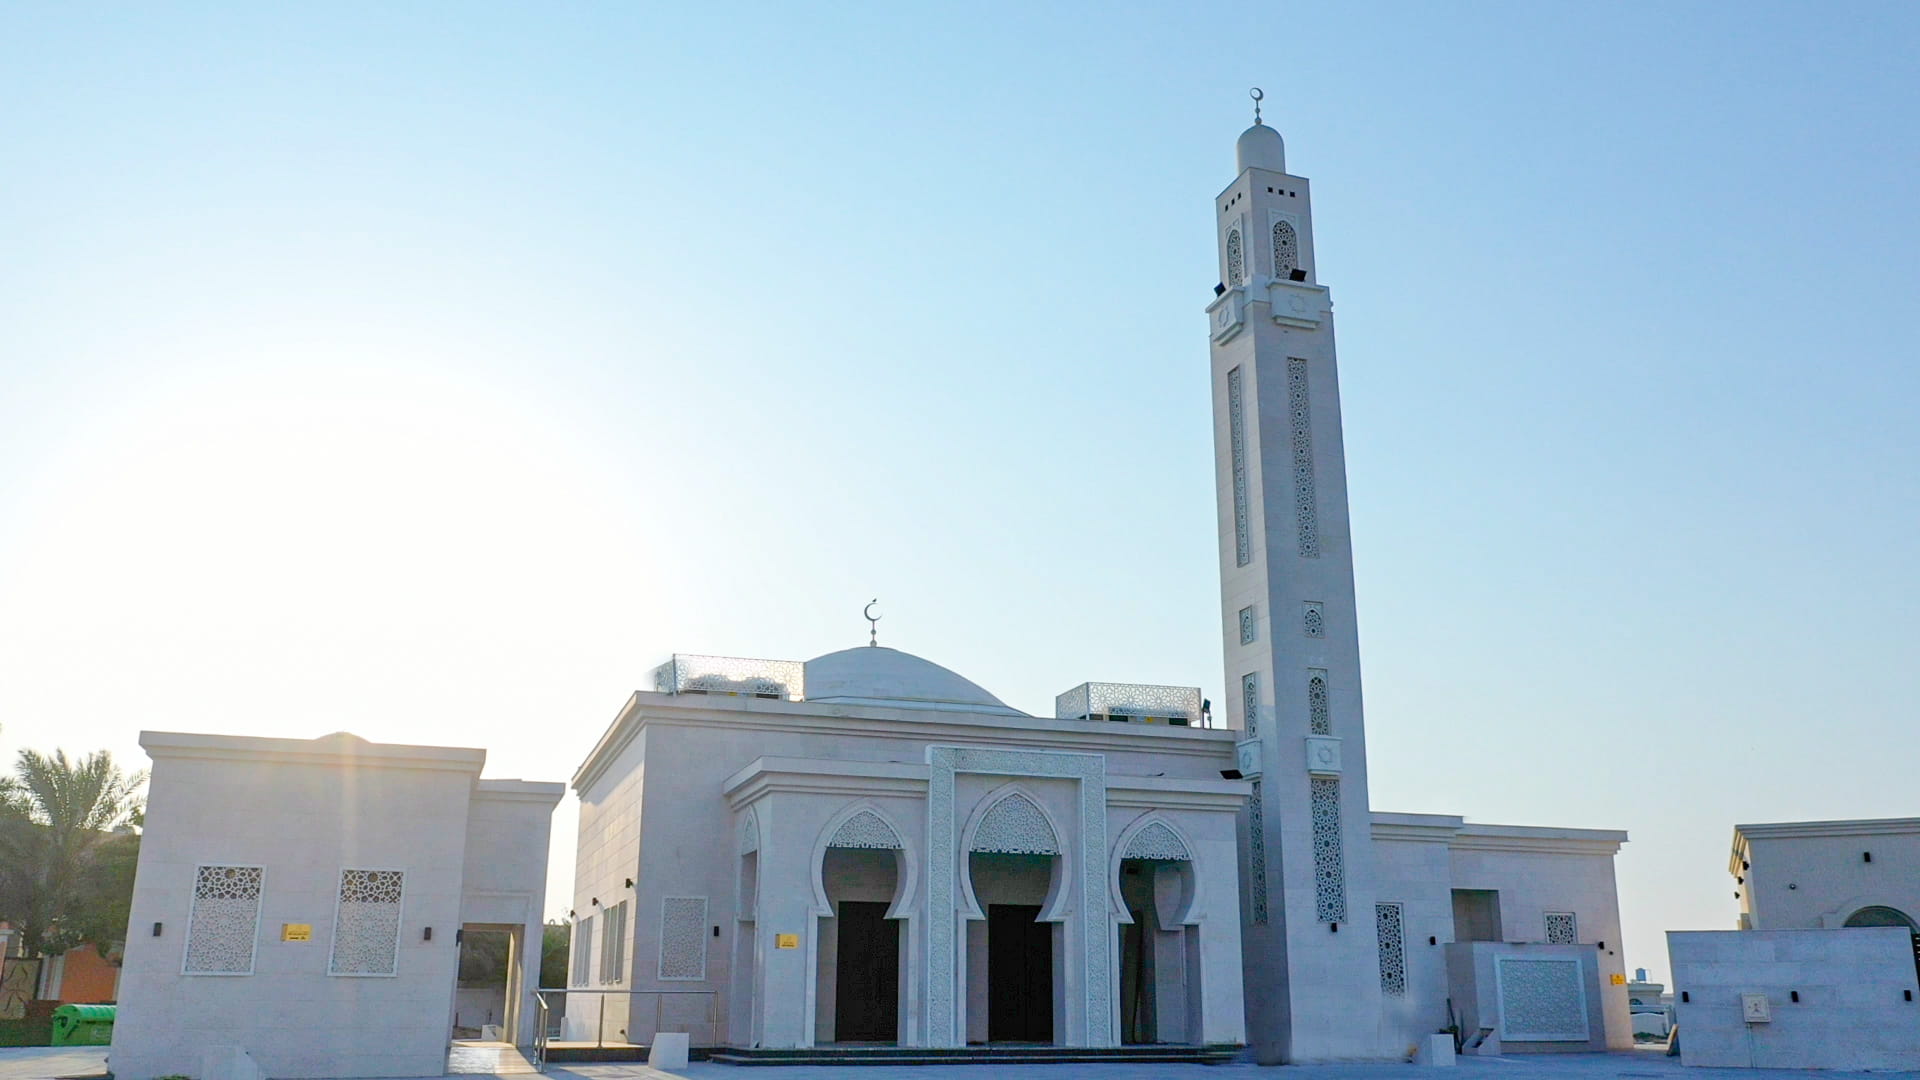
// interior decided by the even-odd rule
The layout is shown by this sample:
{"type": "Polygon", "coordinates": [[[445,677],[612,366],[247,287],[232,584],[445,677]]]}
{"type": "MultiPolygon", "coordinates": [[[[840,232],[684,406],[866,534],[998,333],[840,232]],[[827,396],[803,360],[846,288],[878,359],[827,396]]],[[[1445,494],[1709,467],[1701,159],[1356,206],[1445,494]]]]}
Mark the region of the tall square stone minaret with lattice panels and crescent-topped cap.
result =
{"type": "Polygon", "coordinates": [[[1242,828],[1246,1028],[1261,1063],[1392,1055],[1380,1022],[1367,742],[1332,304],[1313,202],[1260,119],[1213,200],[1213,455],[1242,828]]]}

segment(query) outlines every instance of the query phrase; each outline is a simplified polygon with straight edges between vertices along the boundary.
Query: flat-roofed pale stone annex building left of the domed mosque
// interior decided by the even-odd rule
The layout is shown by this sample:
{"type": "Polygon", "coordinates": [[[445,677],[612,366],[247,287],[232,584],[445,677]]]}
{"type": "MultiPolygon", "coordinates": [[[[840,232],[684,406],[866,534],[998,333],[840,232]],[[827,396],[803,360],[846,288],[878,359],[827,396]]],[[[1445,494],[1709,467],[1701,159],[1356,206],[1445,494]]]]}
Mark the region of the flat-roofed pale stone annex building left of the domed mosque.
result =
{"type": "Polygon", "coordinates": [[[142,732],[154,759],[113,1074],[438,1076],[463,926],[518,932],[532,1042],[561,784],[480,780],[486,751],[142,732]],[[307,940],[298,928],[309,928],[307,940]]]}

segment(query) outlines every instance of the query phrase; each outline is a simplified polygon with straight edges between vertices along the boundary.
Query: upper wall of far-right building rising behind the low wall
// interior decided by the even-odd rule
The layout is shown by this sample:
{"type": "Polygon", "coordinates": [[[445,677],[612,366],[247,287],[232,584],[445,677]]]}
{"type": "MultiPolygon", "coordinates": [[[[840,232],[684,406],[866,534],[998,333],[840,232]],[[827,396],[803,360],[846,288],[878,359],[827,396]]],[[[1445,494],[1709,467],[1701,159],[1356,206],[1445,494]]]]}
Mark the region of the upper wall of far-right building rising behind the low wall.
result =
{"type": "Polygon", "coordinates": [[[1755,930],[1843,926],[1870,905],[1920,920],[1920,822],[1914,832],[1751,836],[1747,878],[1755,930]],[[1872,853],[1872,861],[1864,855],[1872,853]],[[1791,888],[1789,888],[1791,886],[1791,888]]]}

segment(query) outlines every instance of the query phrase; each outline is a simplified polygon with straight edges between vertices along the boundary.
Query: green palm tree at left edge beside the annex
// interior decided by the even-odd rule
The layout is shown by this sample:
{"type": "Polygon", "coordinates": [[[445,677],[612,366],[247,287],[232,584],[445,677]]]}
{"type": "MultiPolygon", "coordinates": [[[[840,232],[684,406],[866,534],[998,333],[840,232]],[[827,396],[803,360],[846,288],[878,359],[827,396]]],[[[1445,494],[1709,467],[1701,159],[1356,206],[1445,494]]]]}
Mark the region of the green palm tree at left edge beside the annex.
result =
{"type": "Polygon", "coordinates": [[[21,749],[0,778],[0,919],[29,953],[125,940],[144,782],[104,749],[77,761],[21,749]]]}

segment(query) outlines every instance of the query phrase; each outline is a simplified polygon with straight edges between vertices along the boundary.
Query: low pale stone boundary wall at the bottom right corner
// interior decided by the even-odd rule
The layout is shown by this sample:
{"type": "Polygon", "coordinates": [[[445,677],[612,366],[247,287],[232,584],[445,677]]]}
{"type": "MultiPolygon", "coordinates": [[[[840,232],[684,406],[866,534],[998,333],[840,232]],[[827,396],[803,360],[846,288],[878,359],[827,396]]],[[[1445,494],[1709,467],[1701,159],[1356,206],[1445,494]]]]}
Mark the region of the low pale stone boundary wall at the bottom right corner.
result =
{"type": "Polygon", "coordinates": [[[1920,1068],[1920,1001],[1907,999],[1920,988],[1903,928],[1670,930],[1667,955],[1682,1065],[1920,1068]],[[1772,1020],[1745,1022],[1741,994],[1764,994],[1772,1020]]]}

